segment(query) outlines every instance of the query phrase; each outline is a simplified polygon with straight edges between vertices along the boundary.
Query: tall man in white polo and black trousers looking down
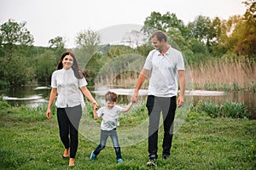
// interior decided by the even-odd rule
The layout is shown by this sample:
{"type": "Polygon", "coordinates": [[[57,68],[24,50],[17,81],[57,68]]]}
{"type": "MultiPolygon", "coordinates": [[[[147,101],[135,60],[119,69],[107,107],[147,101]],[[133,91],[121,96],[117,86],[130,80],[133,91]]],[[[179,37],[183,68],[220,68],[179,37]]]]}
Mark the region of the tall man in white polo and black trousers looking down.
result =
{"type": "Polygon", "coordinates": [[[143,82],[151,77],[148,85],[147,108],[149,116],[148,125],[148,166],[154,166],[158,158],[158,128],[160,111],[164,121],[163,159],[170,156],[173,136],[173,122],[177,107],[184,102],[185,91],[185,68],[183,55],[167,44],[167,36],[163,31],[154,31],[151,37],[154,50],[150,51],[141,71],[132,101],[137,101],[138,91],[143,82]],[[177,97],[177,77],[179,80],[180,93],[177,97]],[[176,101],[177,97],[177,101],[176,101]]]}

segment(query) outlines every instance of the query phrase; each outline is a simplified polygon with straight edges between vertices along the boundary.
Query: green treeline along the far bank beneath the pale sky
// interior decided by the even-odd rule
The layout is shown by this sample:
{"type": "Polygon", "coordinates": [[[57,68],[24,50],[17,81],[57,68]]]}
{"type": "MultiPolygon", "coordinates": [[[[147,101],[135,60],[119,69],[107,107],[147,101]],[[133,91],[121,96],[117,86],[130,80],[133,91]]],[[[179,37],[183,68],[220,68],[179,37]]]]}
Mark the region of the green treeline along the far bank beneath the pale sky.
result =
{"type": "MultiPolygon", "coordinates": [[[[231,16],[228,20],[218,17],[211,19],[199,15],[187,25],[178,20],[176,14],[160,14],[152,12],[144,21],[143,34],[148,36],[148,43],[131,48],[125,45],[101,45],[101,37],[96,31],[84,30],[75,38],[76,48],[73,53],[79,59],[82,69],[87,74],[90,85],[111,79],[118,83],[120,78],[137,78],[137,71],[131,71],[131,63],[136,65],[136,57],[130,54],[147,56],[153,48],[150,44],[150,35],[154,30],[166,31],[169,43],[183,52],[186,64],[192,70],[192,75],[200,75],[201,71],[210,71],[209,68],[219,67],[226,62],[240,63],[237,67],[252,78],[241,83],[252,83],[255,80],[256,62],[256,3],[253,0],[243,2],[246,13],[231,16]],[[125,59],[130,56],[130,59],[125,59]],[[116,67],[128,67],[126,71],[106,70],[102,77],[98,77],[102,67],[113,59],[123,57],[122,63],[116,62],[116,67]],[[214,65],[213,65],[214,64],[214,65]],[[128,65],[128,66],[127,66],[128,65]],[[204,67],[202,69],[201,67],[204,67]],[[130,69],[130,71],[128,71],[130,69]],[[111,72],[111,77],[106,76],[111,72]],[[104,79],[104,80],[103,80],[104,79]]],[[[49,46],[34,47],[33,36],[26,29],[26,22],[8,20],[0,26],[0,88],[49,82],[52,71],[55,71],[61,54],[67,50],[63,37],[54,37],[49,40],[49,46]]],[[[134,56],[134,55],[133,55],[134,56]]],[[[136,66],[132,65],[132,69],[136,66]]],[[[233,66],[230,65],[230,69],[233,66]]],[[[219,70],[225,68],[219,67],[219,70]]],[[[227,73],[229,70],[226,70],[227,73]]],[[[214,73],[213,73],[214,74],[214,73]]],[[[235,77],[243,75],[235,75],[235,77]]],[[[200,77],[202,79],[202,77],[200,77]]],[[[217,77],[218,79],[218,77],[217,77]]],[[[200,81],[195,78],[194,82],[200,81]]],[[[207,80],[209,81],[209,80],[207,80]]],[[[211,80],[210,80],[211,81],[211,80]]],[[[108,81],[109,82],[109,81],[108,81]]],[[[202,83],[209,83],[204,82],[202,83]]],[[[230,82],[233,83],[233,82],[230,82]]],[[[254,82],[253,82],[254,83],[254,82]]],[[[197,84],[198,85],[198,84],[197,84]]],[[[203,86],[202,86],[203,87],[203,86]]]]}

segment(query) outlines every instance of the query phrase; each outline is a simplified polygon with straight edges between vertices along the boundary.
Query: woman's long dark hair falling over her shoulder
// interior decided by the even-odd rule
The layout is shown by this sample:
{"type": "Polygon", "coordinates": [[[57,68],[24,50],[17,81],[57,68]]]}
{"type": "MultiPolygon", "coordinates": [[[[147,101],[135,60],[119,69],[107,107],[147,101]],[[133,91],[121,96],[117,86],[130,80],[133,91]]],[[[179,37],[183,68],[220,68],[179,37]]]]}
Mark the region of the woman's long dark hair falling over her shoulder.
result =
{"type": "Polygon", "coordinates": [[[74,72],[74,76],[77,77],[78,79],[83,78],[84,77],[84,71],[79,69],[79,64],[78,64],[77,59],[75,58],[74,54],[69,52],[69,51],[67,51],[67,52],[65,52],[64,54],[61,55],[61,60],[59,61],[58,65],[57,65],[57,70],[61,70],[63,68],[62,60],[67,55],[70,55],[73,58],[72,69],[73,69],[73,72],[74,72]]]}

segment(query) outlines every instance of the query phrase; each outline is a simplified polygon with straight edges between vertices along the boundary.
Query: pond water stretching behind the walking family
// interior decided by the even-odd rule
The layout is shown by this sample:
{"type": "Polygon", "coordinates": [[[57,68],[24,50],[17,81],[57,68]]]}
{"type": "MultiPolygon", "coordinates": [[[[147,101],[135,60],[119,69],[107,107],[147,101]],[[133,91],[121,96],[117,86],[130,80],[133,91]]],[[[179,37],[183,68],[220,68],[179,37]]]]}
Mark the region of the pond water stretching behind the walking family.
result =
{"type": "MultiPolygon", "coordinates": [[[[93,94],[97,102],[104,102],[103,95],[107,92],[108,88],[101,88],[93,90],[90,88],[91,94],[93,94]]],[[[113,92],[119,94],[119,103],[126,104],[133,94],[133,89],[127,88],[112,88],[113,92]]],[[[10,105],[20,106],[26,105],[28,107],[37,107],[43,103],[48,102],[50,88],[46,86],[41,87],[20,87],[20,88],[8,88],[0,90],[3,99],[6,100],[10,105]]],[[[146,99],[147,90],[140,90],[139,94],[146,99]]],[[[243,103],[247,106],[247,109],[253,114],[253,118],[256,119],[256,94],[248,92],[235,92],[235,93],[224,93],[215,91],[201,91],[195,90],[186,93],[187,96],[191,96],[193,104],[195,105],[198,101],[210,100],[212,102],[221,104],[224,101],[233,101],[237,103],[243,103]]]]}

